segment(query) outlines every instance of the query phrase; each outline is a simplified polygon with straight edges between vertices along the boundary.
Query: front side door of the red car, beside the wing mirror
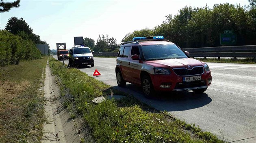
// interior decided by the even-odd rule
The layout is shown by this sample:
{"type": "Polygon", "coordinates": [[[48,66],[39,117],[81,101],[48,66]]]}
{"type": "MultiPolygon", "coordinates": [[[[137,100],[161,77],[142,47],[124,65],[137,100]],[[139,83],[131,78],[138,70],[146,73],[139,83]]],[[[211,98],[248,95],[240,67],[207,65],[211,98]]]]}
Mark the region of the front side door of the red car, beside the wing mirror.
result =
{"type": "Polygon", "coordinates": [[[128,62],[129,65],[129,73],[130,73],[130,79],[134,82],[140,82],[140,71],[141,71],[141,63],[139,63],[139,60],[133,60],[132,55],[139,55],[139,46],[132,46],[131,53],[130,53],[130,59],[128,62]],[[130,64],[129,64],[130,63],[130,64]]]}

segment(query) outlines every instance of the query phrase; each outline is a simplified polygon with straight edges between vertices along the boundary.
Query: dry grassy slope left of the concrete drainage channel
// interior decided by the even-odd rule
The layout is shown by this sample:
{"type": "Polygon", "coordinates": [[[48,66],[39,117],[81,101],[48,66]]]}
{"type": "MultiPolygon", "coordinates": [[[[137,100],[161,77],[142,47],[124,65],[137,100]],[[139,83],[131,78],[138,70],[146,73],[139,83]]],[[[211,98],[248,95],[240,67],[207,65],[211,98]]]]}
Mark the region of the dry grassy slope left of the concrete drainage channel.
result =
{"type": "Polygon", "coordinates": [[[40,142],[47,57],[0,67],[0,143],[40,142]]]}

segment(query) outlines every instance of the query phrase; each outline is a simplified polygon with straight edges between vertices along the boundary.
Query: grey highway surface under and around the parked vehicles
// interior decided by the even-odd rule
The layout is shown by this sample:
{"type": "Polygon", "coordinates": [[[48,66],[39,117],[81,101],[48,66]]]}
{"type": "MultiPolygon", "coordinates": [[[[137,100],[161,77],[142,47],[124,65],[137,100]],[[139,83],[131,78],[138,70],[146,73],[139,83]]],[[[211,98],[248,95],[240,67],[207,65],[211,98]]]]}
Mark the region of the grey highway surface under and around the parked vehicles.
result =
{"type": "Polygon", "coordinates": [[[94,60],[94,67],[78,69],[88,75],[93,75],[97,69],[101,76],[96,79],[134,95],[155,109],[167,111],[187,123],[195,123],[220,139],[224,137],[228,142],[256,143],[256,65],[208,63],[213,80],[205,93],[161,93],[153,99],[146,99],[141,88],[133,84],[128,83],[125,88],[117,86],[116,59],[94,60]]]}

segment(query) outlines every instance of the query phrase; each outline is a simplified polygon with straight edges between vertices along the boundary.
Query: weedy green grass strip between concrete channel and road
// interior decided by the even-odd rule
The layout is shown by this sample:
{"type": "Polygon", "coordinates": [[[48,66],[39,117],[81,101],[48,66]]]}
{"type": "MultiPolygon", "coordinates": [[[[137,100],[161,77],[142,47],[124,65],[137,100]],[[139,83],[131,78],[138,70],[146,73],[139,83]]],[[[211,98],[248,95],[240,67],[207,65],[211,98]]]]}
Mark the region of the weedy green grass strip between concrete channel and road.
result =
{"type": "Polygon", "coordinates": [[[93,137],[102,143],[221,143],[210,132],[175,120],[137,101],[131,95],[119,101],[96,104],[95,97],[126,95],[75,68],[50,60],[54,74],[61,79],[64,105],[75,105],[78,114],[88,122],[93,137]],[[68,93],[67,93],[68,92],[68,93]]]}

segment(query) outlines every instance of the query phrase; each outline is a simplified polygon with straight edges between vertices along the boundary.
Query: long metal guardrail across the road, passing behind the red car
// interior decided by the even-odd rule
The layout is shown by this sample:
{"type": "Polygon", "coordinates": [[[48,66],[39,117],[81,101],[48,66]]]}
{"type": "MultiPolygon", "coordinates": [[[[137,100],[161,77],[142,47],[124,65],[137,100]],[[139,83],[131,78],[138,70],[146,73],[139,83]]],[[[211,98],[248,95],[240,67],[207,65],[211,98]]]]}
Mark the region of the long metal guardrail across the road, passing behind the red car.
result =
{"type": "MultiPolygon", "coordinates": [[[[219,46],[204,48],[183,48],[190,57],[244,57],[256,58],[256,45],[249,46],[219,46]]],[[[118,52],[94,53],[94,56],[117,57],[118,52]]]]}

